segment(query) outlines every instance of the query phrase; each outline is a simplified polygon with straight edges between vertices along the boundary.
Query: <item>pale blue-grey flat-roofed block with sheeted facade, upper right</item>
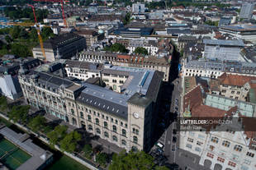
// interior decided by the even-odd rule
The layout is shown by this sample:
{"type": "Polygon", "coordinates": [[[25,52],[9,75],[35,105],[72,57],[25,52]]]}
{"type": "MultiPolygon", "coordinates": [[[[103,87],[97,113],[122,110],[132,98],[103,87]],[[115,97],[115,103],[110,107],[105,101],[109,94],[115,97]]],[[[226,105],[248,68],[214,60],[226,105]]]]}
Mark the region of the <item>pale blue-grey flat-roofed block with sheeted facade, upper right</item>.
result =
{"type": "Polygon", "coordinates": [[[240,51],[244,47],[242,40],[204,39],[203,57],[211,60],[244,61],[240,51]]]}

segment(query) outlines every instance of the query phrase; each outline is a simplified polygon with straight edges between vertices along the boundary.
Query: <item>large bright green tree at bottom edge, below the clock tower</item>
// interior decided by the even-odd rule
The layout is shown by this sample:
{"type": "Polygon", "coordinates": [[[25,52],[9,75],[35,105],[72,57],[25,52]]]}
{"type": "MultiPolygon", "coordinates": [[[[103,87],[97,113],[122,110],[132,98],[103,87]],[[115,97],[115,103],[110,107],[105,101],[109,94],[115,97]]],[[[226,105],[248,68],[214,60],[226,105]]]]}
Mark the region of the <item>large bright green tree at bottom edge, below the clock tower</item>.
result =
{"type": "Polygon", "coordinates": [[[114,154],[112,163],[109,166],[109,170],[153,170],[154,159],[149,154],[145,154],[144,151],[130,152],[126,154],[126,151],[121,151],[120,154],[114,154]]]}

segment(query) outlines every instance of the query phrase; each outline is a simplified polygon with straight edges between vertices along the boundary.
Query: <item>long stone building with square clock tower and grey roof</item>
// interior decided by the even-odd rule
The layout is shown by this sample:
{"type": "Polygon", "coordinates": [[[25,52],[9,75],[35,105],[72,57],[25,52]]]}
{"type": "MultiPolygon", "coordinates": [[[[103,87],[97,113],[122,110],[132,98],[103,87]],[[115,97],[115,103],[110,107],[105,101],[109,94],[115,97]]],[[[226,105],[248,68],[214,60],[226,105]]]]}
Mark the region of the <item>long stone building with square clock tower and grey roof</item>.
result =
{"type": "Polygon", "coordinates": [[[110,80],[117,83],[115,78],[127,74],[121,93],[78,84],[50,71],[21,68],[19,80],[27,103],[127,150],[148,150],[153,145],[163,73],[129,67],[115,69],[115,74],[103,73],[108,80],[102,80],[106,84],[110,80]]]}

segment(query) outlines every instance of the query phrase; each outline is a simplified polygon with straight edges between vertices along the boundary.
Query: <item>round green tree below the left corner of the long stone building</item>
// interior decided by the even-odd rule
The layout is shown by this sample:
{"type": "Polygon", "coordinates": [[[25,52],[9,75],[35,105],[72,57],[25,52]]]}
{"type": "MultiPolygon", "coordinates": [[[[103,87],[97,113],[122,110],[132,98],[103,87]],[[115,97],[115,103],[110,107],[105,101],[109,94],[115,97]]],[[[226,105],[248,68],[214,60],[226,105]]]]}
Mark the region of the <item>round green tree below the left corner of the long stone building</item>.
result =
{"type": "Polygon", "coordinates": [[[14,121],[14,122],[21,122],[25,123],[26,118],[28,115],[28,111],[30,109],[29,105],[20,105],[20,106],[13,106],[11,111],[8,112],[8,116],[14,121]]]}

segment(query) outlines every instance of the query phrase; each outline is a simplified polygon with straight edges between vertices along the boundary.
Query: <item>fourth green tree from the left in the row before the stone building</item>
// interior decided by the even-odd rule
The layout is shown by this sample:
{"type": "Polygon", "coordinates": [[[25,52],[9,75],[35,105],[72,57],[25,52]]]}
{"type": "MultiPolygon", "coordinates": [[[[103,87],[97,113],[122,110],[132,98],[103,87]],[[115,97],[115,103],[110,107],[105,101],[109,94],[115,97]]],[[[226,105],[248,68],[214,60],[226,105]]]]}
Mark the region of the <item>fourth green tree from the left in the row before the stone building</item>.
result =
{"type": "Polygon", "coordinates": [[[55,126],[54,131],[47,133],[47,137],[50,140],[50,145],[57,145],[60,140],[63,140],[67,135],[67,126],[55,126]]]}

